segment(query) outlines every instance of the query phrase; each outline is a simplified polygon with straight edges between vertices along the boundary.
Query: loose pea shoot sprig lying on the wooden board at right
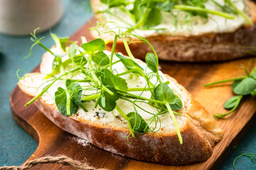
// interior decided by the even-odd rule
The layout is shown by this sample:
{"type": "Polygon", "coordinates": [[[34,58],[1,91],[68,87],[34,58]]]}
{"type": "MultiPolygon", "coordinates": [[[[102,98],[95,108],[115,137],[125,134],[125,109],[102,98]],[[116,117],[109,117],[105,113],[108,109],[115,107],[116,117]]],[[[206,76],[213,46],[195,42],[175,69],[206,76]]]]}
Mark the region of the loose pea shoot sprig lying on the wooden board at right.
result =
{"type": "MultiPolygon", "coordinates": [[[[249,68],[252,67],[253,64],[249,64],[249,68]]],[[[232,113],[233,111],[235,111],[236,108],[238,108],[240,102],[242,101],[242,97],[243,96],[255,96],[256,95],[256,78],[255,78],[255,70],[256,70],[256,66],[252,69],[252,71],[248,71],[245,66],[242,65],[242,68],[245,69],[245,77],[238,77],[238,78],[234,78],[234,79],[226,79],[226,80],[221,80],[221,81],[215,81],[213,83],[210,84],[206,84],[205,87],[207,86],[212,86],[215,84],[221,84],[221,83],[225,83],[225,82],[230,82],[230,81],[234,81],[232,84],[232,89],[234,94],[237,94],[238,96],[233,96],[231,98],[228,99],[228,101],[226,101],[224,103],[224,108],[228,109],[230,111],[228,111],[228,113],[219,113],[217,115],[213,115],[213,117],[215,118],[223,118],[226,115],[229,115],[230,113],[232,113]]]]}

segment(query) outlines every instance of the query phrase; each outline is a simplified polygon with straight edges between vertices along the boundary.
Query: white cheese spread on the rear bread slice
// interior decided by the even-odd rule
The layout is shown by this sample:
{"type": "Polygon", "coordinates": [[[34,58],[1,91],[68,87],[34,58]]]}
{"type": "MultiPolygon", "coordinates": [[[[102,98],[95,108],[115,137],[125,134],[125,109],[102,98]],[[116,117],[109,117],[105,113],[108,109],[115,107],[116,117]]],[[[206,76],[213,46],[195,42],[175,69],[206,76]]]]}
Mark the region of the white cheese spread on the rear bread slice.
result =
{"type": "MultiPolygon", "coordinates": [[[[220,5],[224,5],[223,0],[215,0],[220,5]]],[[[245,12],[245,2],[243,0],[235,0],[233,4],[240,10],[245,12]]],[[[220,6],[217,6],[213,3],[213,1],[206,1],[205,4],[206,8],[214,11],[222,12],[220,6]]],[[[106,6],[102,4],[99,7],[100,11],[103,11],[106,6]]],[[[162,11],[162,22],[159,26],[154,27],[153,29],[149,30],[136,30],[139,35],[144,37],[149,35],[156,35],[159,33],[168,33],[171,35],[183,35],[183,36],[190,36],[190,35],[203,35],[206,33],[230,33],[234,32],[241,26],[245,25],[246,21],[245,18],[242,16],[235,16],[235,19],[227,19],[221,16],[215,16],[213,14],[208,14],[208,19],[202,18],[201,16],[190,16],[189,13],[186,11],[181,11],[178,9],[173,9],[172,12],[174,15],[177,15],[178,18],[175,18],[174,15],[171,13],[167,13],[162,11]],[[175,22],[177,19],[177,24],[175,26],[175,22]],[[164,30],[156,30],[162,29],[164,30]]],[[[127,16],[127,13],[124,13],[120,8],[111,8],[111,13],[116,15],[111,15],[108,13],[104,13],[102,15],[105,18],[105,21],[114,21],[119,24],[121,28],[124,30],[126,28],[130,28],[130,26],[134,26],[134,21],[132,18],[127,16]],[[119,18],[122,18],[120,20],[119,18]],[[122,22],[125,21],[126,23],[122,22]],[[129,23],[129,25],[127,25],[129,23]]],[[[108,24],[113,30],[116,30],[117,27],[114,24],[108,24]]]]}

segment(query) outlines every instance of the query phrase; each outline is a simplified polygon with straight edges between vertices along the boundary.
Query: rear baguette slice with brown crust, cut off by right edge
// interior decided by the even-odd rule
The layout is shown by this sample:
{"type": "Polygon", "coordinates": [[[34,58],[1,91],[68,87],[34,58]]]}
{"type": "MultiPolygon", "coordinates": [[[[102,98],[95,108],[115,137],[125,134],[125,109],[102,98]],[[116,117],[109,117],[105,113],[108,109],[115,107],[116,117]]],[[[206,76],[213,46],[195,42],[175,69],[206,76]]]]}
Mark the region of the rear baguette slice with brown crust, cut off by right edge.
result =
{"type": "MultiPolygon", "coordinates": [[[[253,26],[247,24],[232,33],[206,33],[187,37],[166,33],[148,35],[145,38],[153,45],[161,60],[209,62],[246,57],[250,55],[247,50],[256,46],[256,5],[252,1],[245,2],[249,11],[248,16],[254,23],[253,26]]],[[[99,11],[100,0],[92,0],[91,4],[95,13],[99,11]]],[[[106,22],[104,13],[95,14],[95,17],[98,21],[106,22]]],[[[108,28],[105,29],[109,30],[108,28]]],[[[99,38],[97,31],[92,31],[91,34],[93,38],[99,38]]],[[[113,35],[104,34],[100,37],[110,39],[108,45],[112,47],[113,35]]],[[[133,38],[133,40],[137,41],[138,39],[133,38]]],[[[140,59],[144,59],[146,52],[151,51],[146,43],[132,43],[129,47],[140,59]]],[[[127,54],[122,40],[117,42],[117,50],[127,54]]]]}

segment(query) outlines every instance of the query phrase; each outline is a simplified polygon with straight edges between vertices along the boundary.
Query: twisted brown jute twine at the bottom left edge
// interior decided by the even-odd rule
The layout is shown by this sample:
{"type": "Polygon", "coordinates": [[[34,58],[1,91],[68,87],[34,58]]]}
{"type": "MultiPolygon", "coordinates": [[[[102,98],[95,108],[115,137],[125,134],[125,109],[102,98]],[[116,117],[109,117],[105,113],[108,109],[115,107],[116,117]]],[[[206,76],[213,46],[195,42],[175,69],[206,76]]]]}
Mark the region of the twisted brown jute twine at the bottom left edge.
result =
{"type": "Polygon", "coordinates": [[[64,155],[60,155],[58,157],[47,156],[47,157],[41,157],[38,159],[33,159],[21,166],[1,166],[0,170],[9,170],[9,169],[26,170],[38,164],[64,164],[68,166],[73,166],[75,169],[78,169],[78,170],[107,170],[107,169],[96,169],[95,167],[90,166],[89,164],[75,161],[74,159],[71,159],[64,155]]]}

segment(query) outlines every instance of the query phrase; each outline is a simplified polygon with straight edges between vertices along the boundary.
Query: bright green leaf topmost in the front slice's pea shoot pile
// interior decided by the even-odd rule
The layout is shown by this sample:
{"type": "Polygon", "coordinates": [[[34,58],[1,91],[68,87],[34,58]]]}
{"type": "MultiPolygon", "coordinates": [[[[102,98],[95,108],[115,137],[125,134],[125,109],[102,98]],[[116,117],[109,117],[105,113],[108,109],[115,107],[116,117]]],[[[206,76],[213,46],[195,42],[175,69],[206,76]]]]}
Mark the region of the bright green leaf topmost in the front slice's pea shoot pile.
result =
{"type": "Polygon", "coordinates": [[[92,40],[90,42],[85,42],[81,45],[81,47],[86,52],[104,51],[106,49],[105,41],[100,38],[92,40]]]}

